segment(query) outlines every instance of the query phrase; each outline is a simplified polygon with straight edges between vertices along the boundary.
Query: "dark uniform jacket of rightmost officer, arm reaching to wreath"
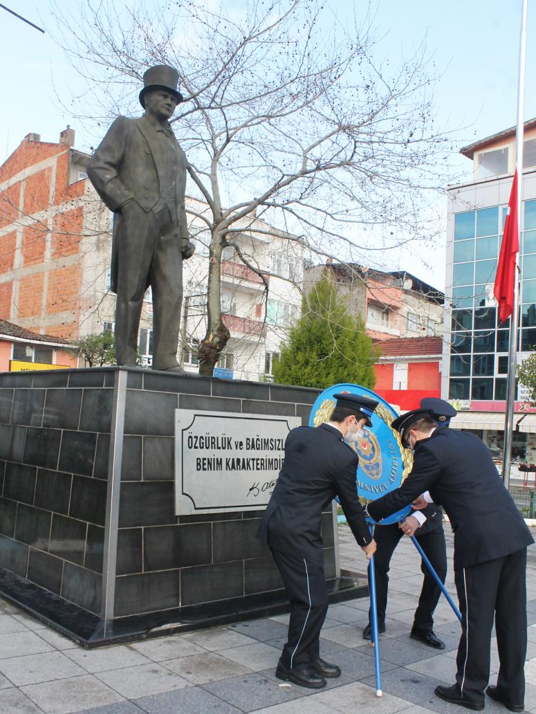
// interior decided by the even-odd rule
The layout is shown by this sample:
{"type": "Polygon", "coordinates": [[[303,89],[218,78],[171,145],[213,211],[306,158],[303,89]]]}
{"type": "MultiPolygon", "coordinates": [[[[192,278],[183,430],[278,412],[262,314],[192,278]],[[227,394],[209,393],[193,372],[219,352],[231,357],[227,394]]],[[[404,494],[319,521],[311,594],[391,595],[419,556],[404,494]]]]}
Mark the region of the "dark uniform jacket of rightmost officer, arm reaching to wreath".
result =
{"type": "Polygon", "coordinates": [[[375,521],[430,491],[454,531],[454,567],[502,558],[533,543],[490,452],[474,434],[440,428],[418,441],[413,471],[400,488],[368,504],[375,521]]]}

